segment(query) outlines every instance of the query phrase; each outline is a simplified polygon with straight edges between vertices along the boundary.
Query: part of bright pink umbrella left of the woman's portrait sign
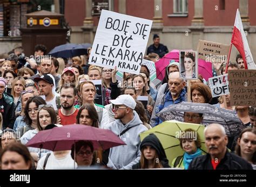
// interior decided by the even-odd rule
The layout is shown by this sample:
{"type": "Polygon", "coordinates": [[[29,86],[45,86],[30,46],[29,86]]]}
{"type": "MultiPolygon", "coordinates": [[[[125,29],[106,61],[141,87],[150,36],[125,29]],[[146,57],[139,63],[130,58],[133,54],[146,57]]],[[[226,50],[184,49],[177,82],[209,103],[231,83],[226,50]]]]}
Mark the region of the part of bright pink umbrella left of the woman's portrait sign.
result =
{"type": "Polygon", "coordinates": [[[157,78],[159,80],[164,80],[165,68],[170,64],[172,60],[179,62],[179,50],[173,49],[171,52],[165,54],[164,57],[162,57],[159,61],[155,63],[157,70],[157,78]]]}

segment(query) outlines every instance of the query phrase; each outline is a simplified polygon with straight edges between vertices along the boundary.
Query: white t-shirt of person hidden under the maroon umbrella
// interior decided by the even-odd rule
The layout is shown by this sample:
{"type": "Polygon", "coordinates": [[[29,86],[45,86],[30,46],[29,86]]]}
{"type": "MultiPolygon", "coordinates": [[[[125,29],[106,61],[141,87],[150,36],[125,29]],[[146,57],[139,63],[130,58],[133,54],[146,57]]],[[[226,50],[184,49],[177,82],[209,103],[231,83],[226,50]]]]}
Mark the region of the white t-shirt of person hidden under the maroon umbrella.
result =
{"type": "MultiPolygon", "coordinates": [[[[46,155],[38,161],[36,169],[43,169],[45,157],[46,155]]],[[[76,169],[77,163],[75,163],[75,168],[74,163],[75,161],[71,157],[71,150],[62,158],[56,158],[55,155],[51,153],[46,162],[45,169],[76,169]]]]}

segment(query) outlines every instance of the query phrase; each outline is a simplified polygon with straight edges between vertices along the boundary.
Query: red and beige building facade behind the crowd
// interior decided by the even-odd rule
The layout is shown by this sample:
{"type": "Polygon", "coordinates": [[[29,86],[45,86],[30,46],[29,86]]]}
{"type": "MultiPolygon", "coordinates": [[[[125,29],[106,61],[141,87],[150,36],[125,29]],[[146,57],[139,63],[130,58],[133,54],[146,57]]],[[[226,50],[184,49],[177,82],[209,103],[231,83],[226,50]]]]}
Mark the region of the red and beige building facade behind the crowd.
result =
{"type": "MultiPolygon", "coordinates": [[[[93,43],[99,16],[92,7],[99,0],[65,0],[65,19],[72,28],[71,42],[93,43]]],[[[102,1],[103,2],[103,1],[102,1]]],[[[106,1],[104,1],[106,2],[106,1]]],[[[109,0],[111,11],[153,20],[153,34],[172,49],[197,49],[199,39],[230,44],[237,9],[256,59],[256,1],[254,0],[109,0]]],[[[232,47],[231,60],[238,54],[232,47]]]]}

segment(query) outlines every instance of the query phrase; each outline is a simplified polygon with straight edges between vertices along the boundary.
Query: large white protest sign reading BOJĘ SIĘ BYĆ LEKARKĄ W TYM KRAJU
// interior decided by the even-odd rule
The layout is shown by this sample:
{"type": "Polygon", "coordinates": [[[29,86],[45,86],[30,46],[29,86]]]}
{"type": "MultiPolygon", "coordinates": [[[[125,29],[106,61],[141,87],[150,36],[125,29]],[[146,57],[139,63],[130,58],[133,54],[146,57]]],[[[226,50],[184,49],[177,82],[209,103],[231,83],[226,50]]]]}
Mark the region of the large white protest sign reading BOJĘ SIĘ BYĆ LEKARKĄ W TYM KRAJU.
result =
{"type": "Polygon", "coordinates": [[[152,20],[102,10],[89,64],[139,74],[152,20]]]}

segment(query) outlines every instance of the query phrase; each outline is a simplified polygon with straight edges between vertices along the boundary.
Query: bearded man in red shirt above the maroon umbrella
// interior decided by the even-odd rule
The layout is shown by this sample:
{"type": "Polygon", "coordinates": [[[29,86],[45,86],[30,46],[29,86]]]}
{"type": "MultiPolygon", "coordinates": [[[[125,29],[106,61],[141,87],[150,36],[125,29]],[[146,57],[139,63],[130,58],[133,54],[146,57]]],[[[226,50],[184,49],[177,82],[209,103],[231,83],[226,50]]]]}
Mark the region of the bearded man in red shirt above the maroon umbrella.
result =
{"type": "Polygon", "coordinates": [[[62,125],[76,123],[78,110],[74,107],[77,99],[77,88],[73,83],[63,84],[60,88],[60,104],[62,108],[58,110],[58,115],[62,125]]]}

